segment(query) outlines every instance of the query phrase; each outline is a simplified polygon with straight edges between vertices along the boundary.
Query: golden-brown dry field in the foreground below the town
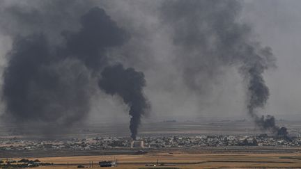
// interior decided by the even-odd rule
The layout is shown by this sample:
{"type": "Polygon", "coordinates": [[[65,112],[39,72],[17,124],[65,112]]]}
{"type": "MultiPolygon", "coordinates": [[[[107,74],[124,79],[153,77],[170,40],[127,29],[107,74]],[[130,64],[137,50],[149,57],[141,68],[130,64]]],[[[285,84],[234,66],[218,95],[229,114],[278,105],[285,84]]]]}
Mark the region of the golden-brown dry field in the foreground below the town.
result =
{"type": "MultiPolygon", "coordinates": [[[[38,158],[42,162],[54,163],[54,166],[40,168],[77,168],[77,165],[100,168],[98,161],[118,161],[122,169],[151,168],[146,164],[164,163],[164,168],[301,168],[301,154],[187,154],[187,153],[159,153],[144,155],[116,155],[116,156],[63,156],[38,158]],[[68,165],[67,165],[68,164],[68,165]]],[[[158,167],[161,168],[161,167],[158,167]]]]}

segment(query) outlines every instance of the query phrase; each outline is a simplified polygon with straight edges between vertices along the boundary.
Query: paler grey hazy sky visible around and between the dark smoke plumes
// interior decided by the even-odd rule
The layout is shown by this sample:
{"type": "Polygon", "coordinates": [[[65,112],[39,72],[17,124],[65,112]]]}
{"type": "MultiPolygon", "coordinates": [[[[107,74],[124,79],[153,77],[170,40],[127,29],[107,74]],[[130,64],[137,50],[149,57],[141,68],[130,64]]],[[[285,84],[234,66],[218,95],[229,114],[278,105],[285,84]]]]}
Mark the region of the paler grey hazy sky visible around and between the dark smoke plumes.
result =
{"type": "MultiPolygon", "coordinates": [[[[270,99],[263,113],[295,120],[301,113],[301,1],[245,0],[240,3],[242,10],[237,16],[239,22],[251,25],[253,38],[263,46],[271,47],[277,58],[277,68],[264,74],[270,88],[270,99]]],[[[0,0],[0,4],[3,5],[0,7],[0,15],[5,16],[0,19],[1,73],[6,66],[6,53],[13,42],[12,35],[26,35],[35,28],[39,31],[45,30],[54,44],[60,43],[60,31],[65,28],[79,28],[78,19],[68,17],[79,18],[88,8],[100,6],[118,26],[131,33],[131,39],[124,47],[113,50],[108,55],[116,56],[116,61],[126,67],[134,67],[144,72],[147,83],[144,92],[152,106],[144,122],[166,119],[248,118],[245,113],[245,90],[236,67],[221,67],[213,72],[218,75],[212,79],[200,77],[200,81],[209,79],[208,82],[203,82],[206,90],[192,90],[185,84],[187,79],[179,73],[182,63],[176,58],[178,53],[172,44],[169,26],[162,24],[162,16],[158,12],[162,10],[162,1],[91,1],[86,6],[72,3],[67,9],[59,9],[65,11],[60,15],[68,15],[65,20],[59,19],[59,26],[48,23],[53,22],[56,15],[49,15],[53,6],[48,8],[42,1],[0,0]],[[22,20],[15,19],[18,17],[16,13],[14,16],[6,13],[5,9],[12,6],[24,7],[19,8],[21,11],[17,15],[24,15],[31,8],[42,11],[47,9],[43,15],[52,19],[45,19],[45,23],[39,24],[39,27],[35,26],[34,20],[32,25],[24,24],[21,23],[22,20]],[[74,10],[78,13],[72,13],[72,8],[78,8],[74,10]]],[[[128,122],[127,111],[128,107],[119,97],[96,91],[91,99],[88,120],[128,122]]]]}

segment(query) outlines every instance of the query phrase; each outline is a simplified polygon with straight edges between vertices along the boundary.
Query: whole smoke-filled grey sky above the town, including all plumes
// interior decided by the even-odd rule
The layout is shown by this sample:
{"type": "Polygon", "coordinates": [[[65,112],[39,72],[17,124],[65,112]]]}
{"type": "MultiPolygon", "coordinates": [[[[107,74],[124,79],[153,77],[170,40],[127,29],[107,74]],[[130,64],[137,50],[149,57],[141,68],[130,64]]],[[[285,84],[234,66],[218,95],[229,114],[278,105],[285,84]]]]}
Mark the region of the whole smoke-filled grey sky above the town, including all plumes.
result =
{"type": "Polygon", "coordinates": [[[286,136],[278,120],[301,120],[300,8],[0,0],[0,123],[46,135],[126,123],[135,139],[148,122],[246,119],[286,136]]]}

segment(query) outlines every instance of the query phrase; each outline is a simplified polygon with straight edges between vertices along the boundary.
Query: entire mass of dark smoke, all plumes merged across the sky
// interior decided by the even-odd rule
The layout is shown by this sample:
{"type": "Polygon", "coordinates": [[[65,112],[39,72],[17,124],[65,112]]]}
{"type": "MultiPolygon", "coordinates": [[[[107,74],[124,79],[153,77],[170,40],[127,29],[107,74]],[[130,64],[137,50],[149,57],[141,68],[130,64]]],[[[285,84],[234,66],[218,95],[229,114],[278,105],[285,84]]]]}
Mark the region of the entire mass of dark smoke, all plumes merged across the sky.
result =
{"type": "MultiPolygon", "coordinates": [[[[235,67],[245,83],[247,112],[258,127],[287,135],[285,127],[277,127],[274,117],[259,113],[270,96],[263,74],[275,67],[275,56],[270,47],[263,47],[254,38],[250,26],[240,21],[240,1],[150,1],[151,10],[148,6],[141,10],[146,2],[138,0],[101,2],[109,6],[114,19],[102,8],[91,8],[95,5],[92,1],[32,0],[24,6],[17,1],[9,8],[0,6],[1,31],[15,39],[3,74],[4,116],[15,124],[68,126],[86,117],[97,86],[109,95],[118,95],[129,106],[130,130],[135,138],[141,116],[149,108],[142,91],[146,80],[141,72],[124,67],[144,62],[139,70],[164,70],[162,67],[175,64],[174,69],[167,70],[183,77],[185,87],[198,97],[210,91],[208,86],[222,77],[225,67],[235,67]],[[148,13],[144,13],[146,8],[148,13]],[[156,34],[161,30],[167,31],[156,34]],[[164,52],[156,53],[158,48],[164,52]],[[126,53],[121,61],[110,53],[116,49],[121,55],[126,53]],[[156,60],[164,59],[168,61],[156,65],[156,60]],[[109,86],[111,83],[114,85],[109,86]]],[[[174,85],[164,78],[158,82],[164,90],[174,85]]]]}

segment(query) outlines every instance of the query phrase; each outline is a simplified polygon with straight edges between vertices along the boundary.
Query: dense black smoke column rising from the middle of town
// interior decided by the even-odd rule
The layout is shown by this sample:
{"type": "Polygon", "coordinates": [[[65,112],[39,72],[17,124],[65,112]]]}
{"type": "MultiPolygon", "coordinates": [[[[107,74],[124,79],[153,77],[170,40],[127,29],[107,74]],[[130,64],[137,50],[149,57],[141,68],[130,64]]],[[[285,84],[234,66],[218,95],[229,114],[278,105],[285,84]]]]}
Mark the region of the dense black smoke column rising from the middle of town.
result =
{"type": "Polygon", "coordinates": [[[141,116],[148,111],[149,104],[144,97],[143,88],[146,86],[144,74],[133,68],[125,69],[122,65],[106,67],[101,73],[98,85],[109,95],[118,95],[130,107],[130,131],[133,140],[136,139],[141,116]]]}

